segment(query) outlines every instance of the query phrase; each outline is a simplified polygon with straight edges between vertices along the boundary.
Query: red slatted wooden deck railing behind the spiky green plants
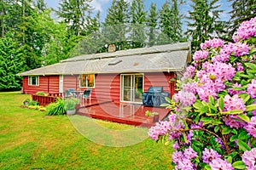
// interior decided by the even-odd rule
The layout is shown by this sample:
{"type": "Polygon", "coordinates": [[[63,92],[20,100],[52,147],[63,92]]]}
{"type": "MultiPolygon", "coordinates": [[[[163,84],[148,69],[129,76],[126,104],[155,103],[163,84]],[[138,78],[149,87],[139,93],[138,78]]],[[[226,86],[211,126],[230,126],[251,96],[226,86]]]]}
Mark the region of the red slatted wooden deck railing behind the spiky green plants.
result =
{"type": "Polygon", "coordinates": [[[32,94],[32,100],[38,101],[39,105],[49,105],[56,101],[57,98],[62,98],[63,94],[49,94],[48,96],[44,95],[35,95],[32,94]]]}

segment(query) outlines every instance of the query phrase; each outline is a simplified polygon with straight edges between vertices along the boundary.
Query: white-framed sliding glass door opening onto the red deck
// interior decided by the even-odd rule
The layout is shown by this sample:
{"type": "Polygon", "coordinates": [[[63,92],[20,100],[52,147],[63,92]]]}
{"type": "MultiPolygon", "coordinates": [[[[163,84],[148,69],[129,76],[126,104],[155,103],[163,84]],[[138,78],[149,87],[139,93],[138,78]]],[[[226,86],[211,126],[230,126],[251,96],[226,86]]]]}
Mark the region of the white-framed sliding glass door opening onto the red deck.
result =
{"type": "Polygon", "coordinates": [[[143,102],[143,75],[121,75],[121,101],[142,103],[143,102]]]}

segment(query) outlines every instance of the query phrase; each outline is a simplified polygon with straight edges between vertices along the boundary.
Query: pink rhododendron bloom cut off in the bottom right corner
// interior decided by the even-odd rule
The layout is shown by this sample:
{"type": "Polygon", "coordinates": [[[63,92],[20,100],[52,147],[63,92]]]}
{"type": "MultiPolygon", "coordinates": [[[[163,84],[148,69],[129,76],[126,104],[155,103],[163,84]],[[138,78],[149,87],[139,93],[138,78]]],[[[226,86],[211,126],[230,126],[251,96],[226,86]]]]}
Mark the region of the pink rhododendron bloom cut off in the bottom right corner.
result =
{"type": "Polygon", "coordinates": [[[241,156],[242,161],[247,166],[247,170],[256,169],[256,148],[253,148],[250,151],[245,151],[241,156]]]}

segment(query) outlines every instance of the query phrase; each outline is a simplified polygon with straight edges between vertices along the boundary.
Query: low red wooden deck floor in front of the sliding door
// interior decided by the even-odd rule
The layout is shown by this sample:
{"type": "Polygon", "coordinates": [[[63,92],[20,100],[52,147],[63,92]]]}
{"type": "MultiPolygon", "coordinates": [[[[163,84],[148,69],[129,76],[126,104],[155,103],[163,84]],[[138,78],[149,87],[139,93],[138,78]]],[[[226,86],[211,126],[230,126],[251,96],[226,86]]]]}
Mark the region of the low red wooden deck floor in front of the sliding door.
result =
{"type": "Polygon", "coordinates": [[[145,111],[156,111],[160,119],[164,119],[169,110],[159,107],[147,107],[144,105],[113,103],[106,99],[87,99],[86,105],[82,102],[81,108],[77,111],[80,116],[90,116],[96,119],[111,122],[125,123],[135,126],[151,127],[155,122],[149,122],[145,111]]]}

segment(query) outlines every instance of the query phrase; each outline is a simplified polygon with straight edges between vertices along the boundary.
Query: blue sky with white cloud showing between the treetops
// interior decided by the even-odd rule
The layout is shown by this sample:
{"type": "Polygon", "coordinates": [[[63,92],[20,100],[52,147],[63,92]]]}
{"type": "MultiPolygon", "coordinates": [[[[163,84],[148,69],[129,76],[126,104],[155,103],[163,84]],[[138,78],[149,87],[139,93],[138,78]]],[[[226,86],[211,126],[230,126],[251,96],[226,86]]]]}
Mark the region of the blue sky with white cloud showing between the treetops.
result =
{"type": "MultiPolygon", "coordinates": [[[[59,6],[61,0],[44,0],[44,2],[47,4],[48,7],[52,7],[57,9],[59,6]]],[[[126,0],[128,2],[131,2],[131,0],[126,0]]],[[[145,0],[145,8],[146,10],[150,7],[150,3],[156,3],[157,8],[161,8],[161,6],[166,2],[166,0],[145,0]]],[[[189,2],[189,0],[187,0],[189,2]]],[[[95,10],[95,14],[97,11],[101,12],[101,20],[103,21],[107,15],[108,8],[111,6],[112,0],[93,0],[91,2],[91,6],[95,10]]],[[[229,20],[229,14],[227,14],[230,11],[230,3],[227,2],[227,0],[220,0],[219,3],[221,4],[221,8],[224,10],[224,14],[221,15],[222,20],[229,20]]],[[[185,3],[182,6],[182,12],[183,14],[188,14],[189,9],[189,3],[185,3]]]]}

